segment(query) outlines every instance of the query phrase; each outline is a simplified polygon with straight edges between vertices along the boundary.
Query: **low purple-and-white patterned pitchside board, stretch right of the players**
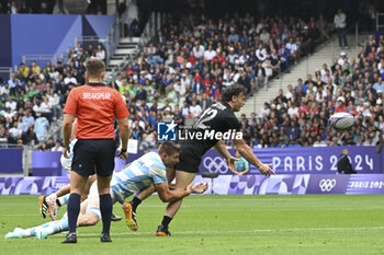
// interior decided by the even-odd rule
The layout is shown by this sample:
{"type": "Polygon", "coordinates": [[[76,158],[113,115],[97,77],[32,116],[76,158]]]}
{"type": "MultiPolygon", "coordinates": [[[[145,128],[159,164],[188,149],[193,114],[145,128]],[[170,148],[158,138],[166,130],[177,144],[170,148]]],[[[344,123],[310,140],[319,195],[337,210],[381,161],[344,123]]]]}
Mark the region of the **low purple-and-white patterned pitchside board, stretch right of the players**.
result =
{"type": "MultiPolygon", "coordinates": [[[[195,183],[208,182],[197,175],[195,183]]],[[[205,192],[211,194],[212,187],[205,192]]],[[[219,175],[214,179],[219,195],[305,195],[305,194],[384,194],[384,174],[281,174],[219,175]]]]}

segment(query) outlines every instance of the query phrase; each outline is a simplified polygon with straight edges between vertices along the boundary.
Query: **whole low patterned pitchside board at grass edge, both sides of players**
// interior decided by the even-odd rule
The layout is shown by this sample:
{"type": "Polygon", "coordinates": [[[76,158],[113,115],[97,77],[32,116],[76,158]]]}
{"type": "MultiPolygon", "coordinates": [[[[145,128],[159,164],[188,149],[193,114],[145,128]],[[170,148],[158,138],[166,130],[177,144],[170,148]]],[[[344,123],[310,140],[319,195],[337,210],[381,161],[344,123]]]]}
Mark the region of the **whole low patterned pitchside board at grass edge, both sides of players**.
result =
{"type": "MultiPolygon", "coordinates": [[[[305,194],[384,194],[384,174],[281,174],[219,175],[214,179],[197,175],[194,183],[208,182],[204,193],[218,195],[305,195],[305,194]]],[[[0,177],[0,195],[44,195],[69,184],[67,176],[0,177]]]]}

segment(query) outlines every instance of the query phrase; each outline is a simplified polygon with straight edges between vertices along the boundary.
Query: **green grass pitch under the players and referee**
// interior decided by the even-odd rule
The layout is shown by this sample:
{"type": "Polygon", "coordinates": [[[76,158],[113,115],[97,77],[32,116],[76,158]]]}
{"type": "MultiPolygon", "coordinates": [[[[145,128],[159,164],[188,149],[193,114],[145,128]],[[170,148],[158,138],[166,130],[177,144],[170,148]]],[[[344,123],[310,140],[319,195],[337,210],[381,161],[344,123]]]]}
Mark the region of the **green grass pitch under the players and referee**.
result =
{"type": "MultiPolygon", "coordinates": [[[[113,243],[100,243],[102,224],[78,229],[78,244],[5,240],[15,227],[46,222],[37,196],[0,196],[0,254],[384,254],[384,199],[380,195],[190,196],[155,236],[166,204],[153,196],[138,210],[138,231],[112,222],[113,243]]],[[[120,205],[114,213],[123,216],[120,205]]],[[[64,210],[60,211],[64,213],[64,210]]]]}

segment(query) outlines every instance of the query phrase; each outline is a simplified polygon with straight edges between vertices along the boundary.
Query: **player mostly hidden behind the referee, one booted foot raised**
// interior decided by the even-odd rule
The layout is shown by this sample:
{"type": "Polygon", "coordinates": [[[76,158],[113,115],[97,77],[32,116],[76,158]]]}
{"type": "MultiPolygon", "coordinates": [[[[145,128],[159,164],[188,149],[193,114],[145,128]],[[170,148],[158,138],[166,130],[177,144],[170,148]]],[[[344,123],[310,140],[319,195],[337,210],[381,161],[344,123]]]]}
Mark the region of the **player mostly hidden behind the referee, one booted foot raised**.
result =
{"type": "MultiPolygon", "coordinates": [[[[70,169],[72,165],[74,147],[77,142],[76,130],[77,130],[77,119],[75,119],[75,121],[72,124],[72,129],[71,129],[71,135],[70,135],[69,154],[68,154],[69,159],[65,158],[63,154],[60,158],[61,166],[67,172],[68,178],[70,175],[70,169]]],[[[86,187],[81,194],[81,201],[87,199],[88,194],[89,194],[89,189],[95,179],[97,179],[95,174],[92,176],[89,176],[88,182],[86,184],[86,187]]],[[[68,185],[61,187],[56,193],[53,193],[48,196],[41,196],[38,198],[38,204],[39,204],[38,206],[39,206],[39,213],[42,215],[43,219],[46,218],[46,215],[48,212],[50,220],[55,221],[57,219],[57,213],[58,213],[59,208],[61,206],[68,204],[69,196],[66,196],[66,195],[69,193],[70,193],[70,185],[68,184],[68,185]]],[[[120,221],[120,220],[122,220],[121,217],[117,217],[117,216],[112,213],[111,221],[120,221]]]]}

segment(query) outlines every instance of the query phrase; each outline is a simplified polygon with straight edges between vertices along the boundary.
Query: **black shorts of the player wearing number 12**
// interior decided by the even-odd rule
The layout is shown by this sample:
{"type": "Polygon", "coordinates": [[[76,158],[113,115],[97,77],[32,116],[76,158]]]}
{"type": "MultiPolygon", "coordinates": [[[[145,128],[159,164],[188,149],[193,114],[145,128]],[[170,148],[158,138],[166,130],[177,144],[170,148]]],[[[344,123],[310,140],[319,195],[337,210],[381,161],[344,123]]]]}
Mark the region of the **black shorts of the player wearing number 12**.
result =
{"type": "Polygon", "coordinates": [[[202,155],[200,154],[201,153],[196,153],[196,151],[192,150],[190,147],[183,148],[183,146],[181,146],[179,163],[174,165],[174,169],[177,171],[196,174],[202,161],[202,155]]]}

